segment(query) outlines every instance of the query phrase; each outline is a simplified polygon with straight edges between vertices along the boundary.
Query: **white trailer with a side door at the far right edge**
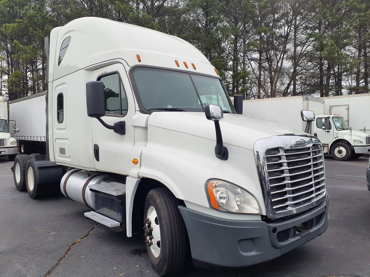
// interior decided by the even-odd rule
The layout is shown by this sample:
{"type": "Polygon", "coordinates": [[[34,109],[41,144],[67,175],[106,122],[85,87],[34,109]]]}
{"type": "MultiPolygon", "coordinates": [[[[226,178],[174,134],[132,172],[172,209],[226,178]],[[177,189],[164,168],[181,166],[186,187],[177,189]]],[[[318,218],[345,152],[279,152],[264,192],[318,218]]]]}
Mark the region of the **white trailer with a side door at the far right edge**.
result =
{"type": "Polygon", "coordinates": [[[322,99],[325,101],[324,114],[343,116],[353,131],[370,134],[370,93],[330,96],[322,99]]]}

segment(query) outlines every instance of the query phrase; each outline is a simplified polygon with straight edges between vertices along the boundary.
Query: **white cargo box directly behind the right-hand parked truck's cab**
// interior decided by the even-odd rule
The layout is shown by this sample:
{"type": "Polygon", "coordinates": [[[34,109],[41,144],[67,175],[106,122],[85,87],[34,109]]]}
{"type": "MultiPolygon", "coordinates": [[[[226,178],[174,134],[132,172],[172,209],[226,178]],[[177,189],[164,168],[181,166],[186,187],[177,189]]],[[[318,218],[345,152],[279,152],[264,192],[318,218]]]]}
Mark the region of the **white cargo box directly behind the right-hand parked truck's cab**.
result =
{"type": "Polygon", "coordinates": [[[312,96],[291,96],[243,101],[243,114],[279,123],[297,130],[305,130],[301,110],[324,113],[324,100],[312,96]]]}

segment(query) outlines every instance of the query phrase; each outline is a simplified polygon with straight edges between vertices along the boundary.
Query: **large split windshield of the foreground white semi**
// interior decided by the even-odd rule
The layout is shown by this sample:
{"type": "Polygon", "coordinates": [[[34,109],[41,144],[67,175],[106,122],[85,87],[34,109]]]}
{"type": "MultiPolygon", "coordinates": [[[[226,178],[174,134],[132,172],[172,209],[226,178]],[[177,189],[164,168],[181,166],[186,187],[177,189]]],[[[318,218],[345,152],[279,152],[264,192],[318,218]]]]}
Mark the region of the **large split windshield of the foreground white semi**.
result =
{"type": "Polygon", "coordinates": [[[214,104],[224,113],[235,113],[218,78],[145,67],[133,69],[132,77],[148,111],[203,112],[205,104],[214,104]]]}

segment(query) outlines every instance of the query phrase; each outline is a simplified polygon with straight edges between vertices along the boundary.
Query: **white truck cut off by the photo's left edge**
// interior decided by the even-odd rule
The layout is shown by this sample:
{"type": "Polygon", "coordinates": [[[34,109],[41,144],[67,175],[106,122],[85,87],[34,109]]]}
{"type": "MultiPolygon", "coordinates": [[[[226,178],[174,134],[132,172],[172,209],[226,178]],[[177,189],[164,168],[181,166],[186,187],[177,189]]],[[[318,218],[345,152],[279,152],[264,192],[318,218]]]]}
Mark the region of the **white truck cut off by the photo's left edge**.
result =
{"type": "Polygon", "coordinates": [[[16,134],[14,120],[8,121],[8,99],[0,97],[0,157],[8,156],[9,161],[14,161],[18,153],[17,140],[11,136],[16,134]]]}

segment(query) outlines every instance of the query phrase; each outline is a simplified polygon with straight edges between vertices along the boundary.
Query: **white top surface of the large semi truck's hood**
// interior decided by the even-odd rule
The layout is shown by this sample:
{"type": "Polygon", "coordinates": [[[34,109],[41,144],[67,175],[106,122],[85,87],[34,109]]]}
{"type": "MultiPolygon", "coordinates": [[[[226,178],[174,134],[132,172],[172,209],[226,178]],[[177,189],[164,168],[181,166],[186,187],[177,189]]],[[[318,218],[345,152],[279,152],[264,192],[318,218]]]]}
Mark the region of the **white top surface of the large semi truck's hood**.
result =
{"type": "MultiPolygon", "coordinates": [[[[199,112],[154,112],[149,116],[149,126],[191,134],[216,140],[215,124],[199,112]]],[[[220,121],[223,142],[253,150],[261,138],[283,134],[305,134],[302,131],[242,114],[224,114],[220,121]]]]}

